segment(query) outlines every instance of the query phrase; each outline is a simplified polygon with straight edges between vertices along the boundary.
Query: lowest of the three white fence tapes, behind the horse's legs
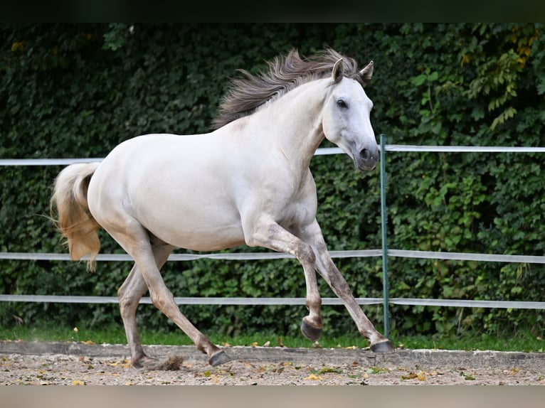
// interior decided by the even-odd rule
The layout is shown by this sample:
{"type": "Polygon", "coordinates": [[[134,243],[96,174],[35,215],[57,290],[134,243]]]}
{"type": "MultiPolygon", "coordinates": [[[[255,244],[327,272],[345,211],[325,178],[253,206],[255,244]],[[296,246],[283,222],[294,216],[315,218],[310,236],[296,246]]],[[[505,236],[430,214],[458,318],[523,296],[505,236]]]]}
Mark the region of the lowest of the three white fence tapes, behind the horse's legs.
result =
{"type": "MultiPolygon", "coordinates": [[[[115,296],[60,296],[60,295],[0,295],[0,301],[64,303],[64,304],[117,304],[115,296]]],[[[305,306],[305,298],[217,298],[217,297],[175,297],[179,305],[239,305],[239,306],[305,306]]],[[[356,298],[360,305],[381,304],[382,298],[356,298]]],[[[391,298],[388,303],[405,306],[454,306],[471,308],[524,308],[545,309],[545,302],[531,301],[489,301],[465,299],[411,299],[391,298]]],[[[149,297],[140,299],[140,304],[152,304],[149,297]]],[[[341,299],[323,298],[322,305],[342,305],[341,299]]]]}

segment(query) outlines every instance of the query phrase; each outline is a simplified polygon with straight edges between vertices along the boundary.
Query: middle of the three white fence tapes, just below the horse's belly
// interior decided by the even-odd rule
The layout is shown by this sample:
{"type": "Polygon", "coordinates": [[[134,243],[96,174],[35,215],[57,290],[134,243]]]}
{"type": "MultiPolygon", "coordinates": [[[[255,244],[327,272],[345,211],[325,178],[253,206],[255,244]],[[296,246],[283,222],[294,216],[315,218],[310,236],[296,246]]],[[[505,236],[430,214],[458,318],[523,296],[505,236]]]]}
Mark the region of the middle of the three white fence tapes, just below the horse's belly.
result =
{"type": "MultiPolygon", "coordinates": [[[[381,249],[358,249],[352,251],[330,251],[332,258],[364,258],[380,257],[381,249]]],[[[545,257],[534,255],[478,254],[471,252],[432,252],[409,251],[405,249],[388,249],[388,256],[418,259],[443,259],[451,261],[512,262],[522,264],[545,264],[545,257]]],[[[283,252],[228,252],[211,254],[171,254],[169,261],[194,261],[196,259],[226,259],[231,261],[248,261],[258,259],[289,259],[291,254],[283,252]]],[[[17,259],[23,261],[70,261],[69,254],[53,252],[0,252],[0,259],[17,259]]],[[[83,261],[88,257],[83,257],[83,261]]],[[[128,254],[98,254],[97,261],[132,262],[128,254]]]]}

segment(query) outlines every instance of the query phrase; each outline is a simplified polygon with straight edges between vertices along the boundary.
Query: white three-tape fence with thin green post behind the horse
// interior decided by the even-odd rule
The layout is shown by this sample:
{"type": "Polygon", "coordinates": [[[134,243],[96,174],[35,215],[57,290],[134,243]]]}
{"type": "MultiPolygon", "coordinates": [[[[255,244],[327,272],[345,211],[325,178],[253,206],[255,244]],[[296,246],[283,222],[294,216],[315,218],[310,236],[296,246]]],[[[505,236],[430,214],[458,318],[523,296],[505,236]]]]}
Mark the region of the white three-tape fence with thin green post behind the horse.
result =
{"type": "MultiPolygon", "coordinates": [[[[465,260],[480,262],[516,262],[545,264],[545,257],[526,255],[504,255],[504,254],[478,254],[465,252],[428,252],[408,251],[401,249],[388,249],[388,238],[386,236],[386,152],[448,152],[448,153],[545,153],[545,147],[508,147],[508,146],[413,146],[386,144],[386,137],[381,135],[381,232],[382,248],[354,251],[331,251],[333,258],[349,257],[382,257],[383,259],[383,297],[382,298],[357,298],[360,305],[383,304],[384,333],[388,337],[390,332],[388,306],[396,305],[421,305],[421,306],[455,306],[455,307],[478,307],[478,308],[527,308],[545,309],[545,302],[529,301],[477,301],[461,299],[409,299],[389,298],[388,296],[388,257],[405,257],[421,259],[444,259],[444,260],[465,260]]],[[[316,155],[341,154],[339,148],[318,149],[316,155]]],[[[91,159],[0,159],[0,166],[66,166],[71,163],[82,163],[101,161],[100,158],[91,159]]],[[[212,254],[171,254],[169,261],[191,261],[194,259],[226,259],[226,260],[253,260],[253,259],[282,259],[292,258],[290,254],[252,252],[252,253],[212,253],[212,254]]],[[[69,261],[68,254],[54,254],[41,252],[0,252],[0,259],[18,260],[50,260],[69,261]]],[[[127,254],[99,254],[97,261],[131,261],[127,254]]],[[[176,297],[177,304],[193,305],[304,305],[304,298],[191,298],[176,297]]],[[[117,303],[114,296],[46,296],[46,295],[14,295],[0,294],[0,301],[23,301],[23,302],[51,302],[51,303],[80,303],[80,304],[105,304],[117,303]]],[[[151,304],[149,297],[142,298],[142,304],[151,304]]],[[[324,298],[324,305],[342,304],[340,299],[324,298]]]]}

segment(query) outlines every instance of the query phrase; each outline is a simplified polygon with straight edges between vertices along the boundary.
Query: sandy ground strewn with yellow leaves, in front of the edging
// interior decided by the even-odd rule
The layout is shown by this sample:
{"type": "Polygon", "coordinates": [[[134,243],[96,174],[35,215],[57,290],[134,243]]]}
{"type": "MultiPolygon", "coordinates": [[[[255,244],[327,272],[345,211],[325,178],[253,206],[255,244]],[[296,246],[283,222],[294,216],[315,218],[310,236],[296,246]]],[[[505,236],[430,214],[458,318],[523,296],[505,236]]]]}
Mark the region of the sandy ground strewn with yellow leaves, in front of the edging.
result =
{"type": "MultiPolygon", "coordinates": [[[[327,353],[327,352],[325,352],[327,353]]],[[[535,367],[448,367],[411,363],[335,363],[293,355],[285,361],[233,360],[211,367],[184,357],[175,371],[144,371],[126,357],[0,354],[0,385],[545,385],[542,359],[535,367]]]]}

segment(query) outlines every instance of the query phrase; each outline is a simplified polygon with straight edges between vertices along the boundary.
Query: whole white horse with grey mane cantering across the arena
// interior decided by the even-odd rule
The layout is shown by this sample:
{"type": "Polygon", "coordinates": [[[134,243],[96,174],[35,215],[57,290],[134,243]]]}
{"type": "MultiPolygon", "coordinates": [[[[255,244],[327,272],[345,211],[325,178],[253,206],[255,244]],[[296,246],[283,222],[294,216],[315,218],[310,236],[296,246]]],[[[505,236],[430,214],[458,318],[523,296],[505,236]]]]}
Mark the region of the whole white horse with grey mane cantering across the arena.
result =
{"type": "Polygon", "coordinates": [[[134,259],[117,291],[131,363],[168,369],[142,348],[136,324],[145,291],[154,306],[206,353],[212,366],[230,360],[181,313],[161,267],[175,247],[217,251],[238,245],[292,254],[305,274],[308,315],[300,330],[320,338],[322,300],[317,274],[327,281],[376,353],[394,351],[357,304],[335,266],[318,222],[309,163],[332,141],[358,171],[379,160],[364,92],[374,63],[361,70],[331,48],[300,57],[293,48],[267,62],[268,71],[240,70],[205,134],[145,134],[122,141],[97,163],[74,163],[55,178],[51,211],[70,259],[95,268],[103,228],[134,259]],[[56,218],[55,218],[56,215],[56,218]]]}

